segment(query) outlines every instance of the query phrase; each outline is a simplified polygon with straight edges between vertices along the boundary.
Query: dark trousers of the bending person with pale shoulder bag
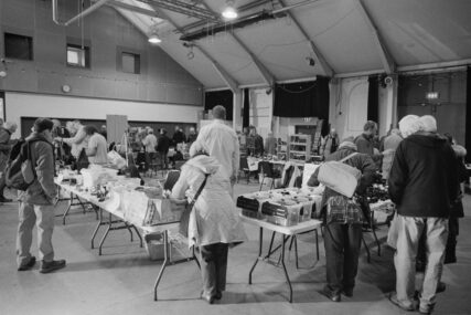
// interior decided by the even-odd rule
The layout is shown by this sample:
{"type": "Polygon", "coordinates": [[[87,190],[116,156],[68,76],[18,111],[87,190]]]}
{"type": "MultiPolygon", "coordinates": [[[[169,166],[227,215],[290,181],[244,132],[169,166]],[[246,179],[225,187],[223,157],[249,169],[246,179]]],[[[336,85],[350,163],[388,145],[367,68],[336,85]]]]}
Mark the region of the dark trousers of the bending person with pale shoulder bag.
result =
{"type": "Polygon", "coordinates": [[[361,241],[361,224],[325,225],[327,287],[333,294],[340,294],[342,288],[353,290],[355,286],[361,241]]]}

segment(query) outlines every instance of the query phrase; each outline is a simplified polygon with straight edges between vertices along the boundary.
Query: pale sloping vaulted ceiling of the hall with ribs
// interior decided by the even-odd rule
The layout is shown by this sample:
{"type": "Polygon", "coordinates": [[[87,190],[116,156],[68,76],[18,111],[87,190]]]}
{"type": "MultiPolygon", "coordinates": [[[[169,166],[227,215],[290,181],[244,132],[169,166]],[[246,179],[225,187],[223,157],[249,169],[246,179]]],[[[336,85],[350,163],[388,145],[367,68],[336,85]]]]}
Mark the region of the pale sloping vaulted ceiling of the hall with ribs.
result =
{"type": "Polygon", "coordinates": [[[236,22],[267,13],[242,28],[216,21],[224,0],[111,2],[125,3],[116,10],[142,33],[153,25],[161,49],[206,88],[471,63],[469,0],[236,0],[236,22]],[[214,14],[190,17],[159,4],[167,2],[214,14]],[[201,38],[181,40],[194,33],[201,38]]]}

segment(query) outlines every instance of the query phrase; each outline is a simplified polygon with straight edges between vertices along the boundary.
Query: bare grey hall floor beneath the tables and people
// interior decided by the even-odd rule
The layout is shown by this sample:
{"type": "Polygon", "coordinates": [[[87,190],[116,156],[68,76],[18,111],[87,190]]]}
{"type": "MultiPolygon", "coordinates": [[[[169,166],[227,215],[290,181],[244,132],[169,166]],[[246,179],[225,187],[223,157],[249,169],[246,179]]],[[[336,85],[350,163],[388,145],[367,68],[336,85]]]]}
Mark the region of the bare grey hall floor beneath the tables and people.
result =
{"type": "MultiPolygon", "coordinates": [[[[258,190],[257,183],[236,186],[236,193],[258,190]]],[[[447,291],[438,295],[435,314],[471,314],[471,198],[464,199],[465,218],[460,221],[458,263],[445,266],[442,280],[447,291]]],[[[57,207],[62,213],[65,204],[57,207]]],[[[319,291],[325,281],[325,260],[321,241],[321,260],[315,261],[313,235],[299,242],[300,270],[293,253],[289,273],[293,281],[295,303],[288,303],[288,286],[280,267],[259,263],[254,284],[248,285],[248,271],[258,250],[258,231],[246,225],[249,241],[231,250],[227,292],[215,305],[199,300],[201,277],[196,265],[188,262],[170,266],[163,275],[159,302],[153,302],[152,287],[160,262],[148,259],[138,242],[130,242],[126,230],[111,232],[104,255],[90,249],[95,214],[72,211],[65,225],[56,219],[54,249],[67,266],[52,274],[40,274],[39,265],[18,272],[15,230],[18,204],[0,206],[0,314],[406,314],[392,305],[387,294],[395,287],[393,252],[382,248],[382,256],[370,234],[372,263],[364,250],[357,284],[352,298],[332,303],[319,291]]],[[[384,241],[386,230],[378,231],[384,241]]],[[[267,234],[266,244],[269,240],[267,234]]],[[[33,243],[35,240],[33,241],[33,243]]],[[[38,255],[36,246],[32,253],[38,255]]],[[[410,313],[409,313],[410,314],[410,313]]]]}

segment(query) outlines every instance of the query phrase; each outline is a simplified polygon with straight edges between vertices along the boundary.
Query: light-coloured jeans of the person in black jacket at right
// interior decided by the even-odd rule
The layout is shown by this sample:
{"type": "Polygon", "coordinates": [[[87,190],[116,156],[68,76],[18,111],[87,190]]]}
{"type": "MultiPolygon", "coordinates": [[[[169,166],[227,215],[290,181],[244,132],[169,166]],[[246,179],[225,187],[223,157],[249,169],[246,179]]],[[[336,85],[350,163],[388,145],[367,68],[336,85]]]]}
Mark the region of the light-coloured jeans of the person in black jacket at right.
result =
{"type": "Polygon", "coordinates": [[[397,300],[411,304],[415,293],[416,258],[419,240],[426,239],[427,266],[420,292],[420,308],[433,307],[437,285],[443,269],[445,248],[448,237],[448,220],[445,218],[416,218],[397,216],[396,267],[397,300]]]}

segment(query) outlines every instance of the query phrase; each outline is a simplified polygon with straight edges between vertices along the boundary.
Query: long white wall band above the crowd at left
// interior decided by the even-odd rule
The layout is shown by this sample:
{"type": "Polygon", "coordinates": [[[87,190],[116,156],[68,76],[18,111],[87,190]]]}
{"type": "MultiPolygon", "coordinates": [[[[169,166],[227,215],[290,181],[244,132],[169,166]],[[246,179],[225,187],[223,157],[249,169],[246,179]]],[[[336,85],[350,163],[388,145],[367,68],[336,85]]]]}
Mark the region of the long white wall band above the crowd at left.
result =
{"type": "Polygon", "coordinates": [[[14,136],[20,136],[21,117],[106,119],[107,114],[113,114],[127,115],[128,120],[197,123],[197,112],[202,109],[202,106],[13,92],[6,93],[6,104],[7,120],[19,126],[14,136]]]}

